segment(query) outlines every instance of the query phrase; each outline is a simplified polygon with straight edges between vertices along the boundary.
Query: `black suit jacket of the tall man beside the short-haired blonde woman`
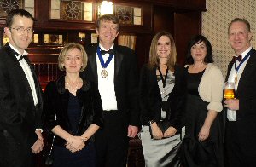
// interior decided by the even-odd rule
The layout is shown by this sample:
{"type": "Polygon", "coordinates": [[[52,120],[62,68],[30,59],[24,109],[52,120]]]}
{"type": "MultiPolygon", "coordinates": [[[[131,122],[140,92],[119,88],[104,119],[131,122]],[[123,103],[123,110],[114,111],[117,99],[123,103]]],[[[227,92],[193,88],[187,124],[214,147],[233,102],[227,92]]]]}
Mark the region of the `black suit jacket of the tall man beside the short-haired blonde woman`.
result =
{"type": "MultiPolygon", "coordinates": [[[[87,50],[88,64],[81,77],[98,85],[96,49],[97,46],[87,50]]],[[[114,45],[113,59],[118,110],[122,112],[127,125],[139,126],[137,57],[132,49],[114,45]]]]}

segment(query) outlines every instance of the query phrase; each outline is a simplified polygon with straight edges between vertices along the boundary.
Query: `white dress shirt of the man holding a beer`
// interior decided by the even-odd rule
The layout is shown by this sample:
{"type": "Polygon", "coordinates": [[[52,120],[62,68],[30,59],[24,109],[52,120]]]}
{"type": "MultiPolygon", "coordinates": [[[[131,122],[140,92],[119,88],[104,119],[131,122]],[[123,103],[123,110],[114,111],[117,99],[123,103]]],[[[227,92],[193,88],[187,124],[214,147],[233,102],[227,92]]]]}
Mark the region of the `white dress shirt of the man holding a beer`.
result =
{"type": "MultiPolygon", "coordinates": [[[[241,54],[241,58],[243,59],[245,57],[245,55],[247,55],[247,53],[252,49],[252,47],[249,47],[246,51],[244,51],[242,54],[241,54]]],[[[249,55],[249,57],[247,58],[247,60],[245,60],[240,68],[238,69],[238,72],[237,72],[237,76],[236,76],[236,69],[235,69],[235,63],[236,63],[236,66],[239,66],[240,62],[238,60],[236,60],[236,62],[234,63],[234,65],[232,66],[231,68],[231,71],[230,71],[230,76],[228,78],[228,81],[230,82],[233,82],[235,83],[235,78],[237,77],[237,83],[235,83],[235,91],[237,89],[237,86],[239,84],[239,81],[240,81],[240,78],[241,78],[241,74],[245,68],[245,66],[247,65],[247,61],[249,60],[251,55],[249,55]]],[[[227,110],[227,118],[229,121],[236,121],[236,110],[230,110],[228,109],[227,110]]]]}

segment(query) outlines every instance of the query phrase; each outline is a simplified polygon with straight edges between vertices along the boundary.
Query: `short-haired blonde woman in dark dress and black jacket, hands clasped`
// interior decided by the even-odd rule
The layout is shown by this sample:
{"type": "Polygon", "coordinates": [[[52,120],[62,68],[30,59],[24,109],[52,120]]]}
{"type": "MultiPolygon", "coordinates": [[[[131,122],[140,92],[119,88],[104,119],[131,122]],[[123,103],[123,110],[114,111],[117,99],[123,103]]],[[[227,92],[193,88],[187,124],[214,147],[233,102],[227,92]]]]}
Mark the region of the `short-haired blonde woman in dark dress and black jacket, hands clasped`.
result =
{"type": "Polygon", "coordinates": [[[44,91],[44,122],[55,135],[54,167],[94,167],[93,136],[102,126],[102,101],[93,83],[80,78],[87,55],[79,43],[67,43],[58,59],[66,74],[44,91]]]}

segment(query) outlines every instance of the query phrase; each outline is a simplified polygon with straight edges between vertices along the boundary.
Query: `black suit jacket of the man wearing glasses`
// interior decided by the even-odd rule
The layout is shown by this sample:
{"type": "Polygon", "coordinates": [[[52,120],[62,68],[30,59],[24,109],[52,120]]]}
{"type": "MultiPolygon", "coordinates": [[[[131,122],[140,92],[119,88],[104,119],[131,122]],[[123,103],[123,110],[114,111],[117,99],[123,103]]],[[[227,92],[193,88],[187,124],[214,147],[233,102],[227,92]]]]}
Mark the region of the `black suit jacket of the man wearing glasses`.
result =
{"type": "Polygon", "coordinates": [[[42,128],[42,97],[32,70],[38,94],[35,107],[26,75],[15,55],[8,43],[0,51],[0,166],[18,167],[28,161],[38,138],[35,130],[42,128]]]}

